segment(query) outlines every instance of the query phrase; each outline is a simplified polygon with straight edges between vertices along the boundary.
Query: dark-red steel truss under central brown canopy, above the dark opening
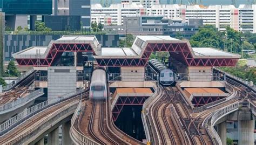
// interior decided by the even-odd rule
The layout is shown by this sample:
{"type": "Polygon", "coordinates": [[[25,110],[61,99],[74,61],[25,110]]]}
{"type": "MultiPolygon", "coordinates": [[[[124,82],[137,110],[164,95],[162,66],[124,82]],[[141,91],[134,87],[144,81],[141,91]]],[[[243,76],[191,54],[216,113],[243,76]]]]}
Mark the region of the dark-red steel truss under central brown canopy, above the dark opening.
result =
{"type": "Polygon", "coordinates": [[[112,110],[113,121],[117,121],[119,114],[122,112],[124,106],[139,105],[143,106],[143,103],[149,96],[119,96],[114,108],[112,110]]]}

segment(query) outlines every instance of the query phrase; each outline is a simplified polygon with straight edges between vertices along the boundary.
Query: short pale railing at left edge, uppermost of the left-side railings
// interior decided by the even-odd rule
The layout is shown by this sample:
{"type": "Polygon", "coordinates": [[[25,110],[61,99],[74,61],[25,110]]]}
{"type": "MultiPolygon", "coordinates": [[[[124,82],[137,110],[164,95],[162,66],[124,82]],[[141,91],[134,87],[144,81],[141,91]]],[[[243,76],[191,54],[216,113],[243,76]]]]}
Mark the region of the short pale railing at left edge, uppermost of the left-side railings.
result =
{"type": "Polygon", "coordinates": [[[19,107],[23,106],[25,103],[28,103],[29,101],[34,100],[43,94],[44,94],[44,89],[40,88],[40,89],[37,89],[36,91],[33,91],[30,94],[26,95],[24,98],[17,99],[10,103],[6,103],[6,104],[0,106],[0,114],[10,112],[10,111],[14,110],[15,108],[19,108],[19,107]]]}

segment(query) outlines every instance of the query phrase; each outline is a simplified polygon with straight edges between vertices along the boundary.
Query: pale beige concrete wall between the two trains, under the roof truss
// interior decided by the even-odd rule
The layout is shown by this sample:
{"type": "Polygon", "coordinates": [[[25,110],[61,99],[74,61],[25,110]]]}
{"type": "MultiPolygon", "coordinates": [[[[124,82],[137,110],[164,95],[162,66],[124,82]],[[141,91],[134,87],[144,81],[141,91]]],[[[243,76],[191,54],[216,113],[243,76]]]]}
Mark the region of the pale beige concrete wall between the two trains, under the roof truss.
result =
{"type": "Polygon", "coordinates": [[[144,81],[144,67],[121,67],[122,81],[144,81]]]}

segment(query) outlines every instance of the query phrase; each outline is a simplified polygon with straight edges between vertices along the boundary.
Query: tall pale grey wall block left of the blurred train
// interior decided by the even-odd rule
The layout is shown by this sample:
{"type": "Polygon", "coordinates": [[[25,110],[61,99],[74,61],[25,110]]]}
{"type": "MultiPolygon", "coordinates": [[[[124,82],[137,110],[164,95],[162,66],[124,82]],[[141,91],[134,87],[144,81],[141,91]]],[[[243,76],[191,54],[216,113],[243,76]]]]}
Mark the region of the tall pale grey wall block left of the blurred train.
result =
{"type": "Polygon", "coordinates": [[[76,91],[76,76],[75,67],[48,67],[48,100],[76,91]]]}

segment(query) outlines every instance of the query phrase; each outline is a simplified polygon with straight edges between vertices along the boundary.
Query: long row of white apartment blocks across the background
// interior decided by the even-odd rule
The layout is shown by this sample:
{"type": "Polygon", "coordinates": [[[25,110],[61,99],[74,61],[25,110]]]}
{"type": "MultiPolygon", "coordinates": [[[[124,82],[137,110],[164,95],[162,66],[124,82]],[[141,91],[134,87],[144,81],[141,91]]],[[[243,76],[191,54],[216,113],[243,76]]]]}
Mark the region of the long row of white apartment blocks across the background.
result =
{"type": "Polygon", "coordinates": [[[112,4],[109,8],[102,8],[100,4],[92,5],[92,22],[122,25],[124,16],[145,15],[181,18],[187,23],[188,19],[201,18],[204,25],[214,25],[220,31],[225,31],[225,27],[230,26],[237,31],[256,33],[256,5],[240,5],[239,8],[235,8],[234,5],[153,4],[147,7],[142,5],[143,2],[148,4],[152,1],[124,0],[123,4],[112,4]]]}

